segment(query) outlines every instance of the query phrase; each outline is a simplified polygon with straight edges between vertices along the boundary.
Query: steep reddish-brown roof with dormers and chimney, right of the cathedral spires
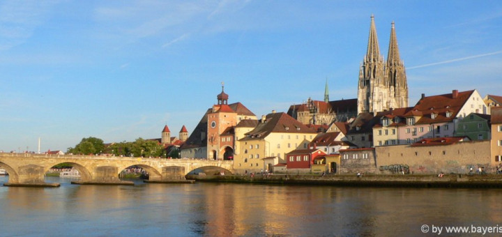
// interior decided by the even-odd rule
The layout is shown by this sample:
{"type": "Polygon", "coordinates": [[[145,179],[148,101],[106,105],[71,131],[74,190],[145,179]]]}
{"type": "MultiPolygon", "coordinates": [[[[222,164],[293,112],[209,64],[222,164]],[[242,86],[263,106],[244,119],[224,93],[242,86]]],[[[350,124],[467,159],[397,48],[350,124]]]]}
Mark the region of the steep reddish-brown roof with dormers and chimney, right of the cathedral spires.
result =
{"type": "Polygon", "coordinates": [[[472,91],[453,91],[452,93],[443,95],[432,95],[421,98],[416,103],[413,110],[422,112],[423,116],[416,123],[439,123],[452,121],[460,109],[466,104],[467,100],[474,93],[472,91]],[[457,94],[455,96],[454,94],[457,94]],[[451,116],[447,117],[446,112],[451,112],[451,116]],[[436,114],[436,118],[432,119],[431,114],[436,114]]]}

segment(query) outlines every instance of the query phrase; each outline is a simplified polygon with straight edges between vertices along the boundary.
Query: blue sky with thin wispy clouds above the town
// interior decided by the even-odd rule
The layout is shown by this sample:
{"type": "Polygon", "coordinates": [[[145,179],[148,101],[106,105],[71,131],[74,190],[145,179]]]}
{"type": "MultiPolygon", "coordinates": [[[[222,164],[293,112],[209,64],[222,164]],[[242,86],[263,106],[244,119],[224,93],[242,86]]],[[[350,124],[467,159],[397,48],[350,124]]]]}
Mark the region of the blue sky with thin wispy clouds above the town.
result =
{"type": "Polygon", "coordinates": [[[502,1],[0,1],[0,151],[191,132],[225,82],[257,116],[356,98],[374,14],[410,105],[502,95],[502,1]]]}

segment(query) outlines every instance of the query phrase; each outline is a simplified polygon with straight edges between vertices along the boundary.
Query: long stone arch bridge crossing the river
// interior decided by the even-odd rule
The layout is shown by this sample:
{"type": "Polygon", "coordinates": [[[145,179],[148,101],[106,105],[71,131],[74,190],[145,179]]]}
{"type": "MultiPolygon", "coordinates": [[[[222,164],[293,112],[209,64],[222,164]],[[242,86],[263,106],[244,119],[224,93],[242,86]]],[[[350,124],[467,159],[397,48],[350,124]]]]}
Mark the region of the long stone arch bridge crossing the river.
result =
{"type": "Polygon", "coordinates": [[[218,167],[234,173],[233,162],[227,160],[0,153],[0,167],[9,174],[5,185],[44,185],[47,171],[61,163],[68,163],[79,171],[80,183],[96,184],[121,183],[119,174],[133,165],[147,171],[149,181],[181,181],[190,171],[203,167],[218,167]]]}

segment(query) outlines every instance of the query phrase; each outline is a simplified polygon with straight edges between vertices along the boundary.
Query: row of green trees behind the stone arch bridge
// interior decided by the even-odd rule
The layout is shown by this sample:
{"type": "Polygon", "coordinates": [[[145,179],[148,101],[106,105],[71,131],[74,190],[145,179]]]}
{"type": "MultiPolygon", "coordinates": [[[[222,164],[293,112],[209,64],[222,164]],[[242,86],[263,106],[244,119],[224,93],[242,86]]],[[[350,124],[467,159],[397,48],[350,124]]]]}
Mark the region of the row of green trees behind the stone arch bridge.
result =
{"type": "Polygon", "coordinates": [[[165,151],[164,146],[156,141],[139,137],[135,142],[119,142],[105,146],[102,139],[96,137],[83,138],[75,148],[68,148],[68,153],[83,155],[110,154],[134,157],[170,157],[179,158],[179,148],[172,146],[165,151]]]}

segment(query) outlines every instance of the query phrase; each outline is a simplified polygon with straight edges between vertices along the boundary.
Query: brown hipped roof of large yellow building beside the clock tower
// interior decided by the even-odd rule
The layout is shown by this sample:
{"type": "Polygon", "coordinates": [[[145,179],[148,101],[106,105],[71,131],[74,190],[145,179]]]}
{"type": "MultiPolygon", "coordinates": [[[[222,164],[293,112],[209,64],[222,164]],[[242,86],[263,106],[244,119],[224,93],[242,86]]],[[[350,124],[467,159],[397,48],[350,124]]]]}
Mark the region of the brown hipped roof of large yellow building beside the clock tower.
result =
{"type": "Polygon", "coordinates": [[[300,123],[286,113],[267,114],[265,120],[261,119],[256,128],[246,133],[245,139],[261,139],[269,135],[271,132],[285,133],[316,133],[311,128],[308,128],[303,123],[300,123]]]}

